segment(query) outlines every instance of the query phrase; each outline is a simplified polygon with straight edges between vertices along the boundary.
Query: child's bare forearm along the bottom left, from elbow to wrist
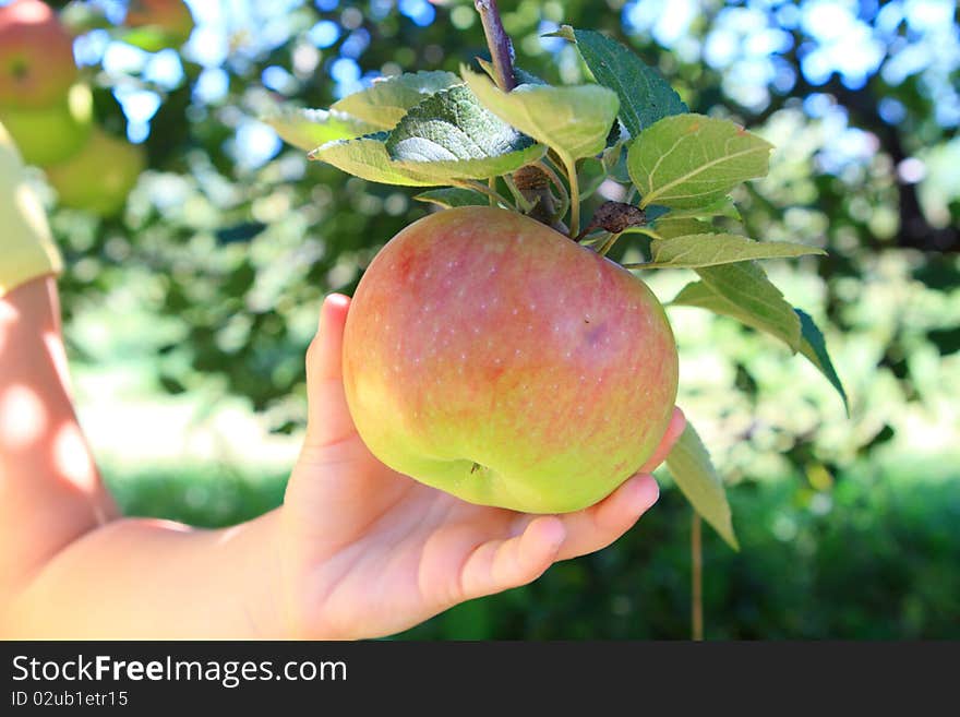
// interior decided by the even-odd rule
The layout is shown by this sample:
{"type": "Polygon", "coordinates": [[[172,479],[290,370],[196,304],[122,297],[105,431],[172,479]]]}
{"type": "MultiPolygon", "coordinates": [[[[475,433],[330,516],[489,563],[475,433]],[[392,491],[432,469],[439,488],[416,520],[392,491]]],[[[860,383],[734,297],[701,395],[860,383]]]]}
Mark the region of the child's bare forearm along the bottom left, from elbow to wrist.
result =
{"type": "Polygon", "coordinates": [[[219,530],[122,518],[50,560],[0,614],[8,638],[280,638],[277,509],[219,530]]]}

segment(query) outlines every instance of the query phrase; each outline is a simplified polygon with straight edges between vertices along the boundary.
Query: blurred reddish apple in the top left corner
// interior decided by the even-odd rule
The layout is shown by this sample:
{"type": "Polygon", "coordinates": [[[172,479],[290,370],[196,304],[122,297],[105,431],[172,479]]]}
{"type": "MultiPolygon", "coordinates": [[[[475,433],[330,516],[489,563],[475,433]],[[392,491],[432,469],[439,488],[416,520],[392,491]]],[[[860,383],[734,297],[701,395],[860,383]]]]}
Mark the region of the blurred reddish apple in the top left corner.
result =
{"type": "Polygon", "coordinates": [[[0,8],[0,105],[52,105],[76,79],[73,39],[49,5],[14,0],[0,8]]]}

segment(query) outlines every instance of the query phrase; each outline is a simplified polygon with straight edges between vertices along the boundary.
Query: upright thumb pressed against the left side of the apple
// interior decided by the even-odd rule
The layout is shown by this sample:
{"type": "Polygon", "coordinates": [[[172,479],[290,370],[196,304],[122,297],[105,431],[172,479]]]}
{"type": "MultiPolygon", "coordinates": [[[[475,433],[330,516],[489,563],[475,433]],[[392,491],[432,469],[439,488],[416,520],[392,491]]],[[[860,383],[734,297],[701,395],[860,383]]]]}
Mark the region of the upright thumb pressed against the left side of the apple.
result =
{"type": "Polygon", "coordinates": [[[331,294],[320,309],[320,328],[307,349],[305,443],[322,447],[353,432],[344,394],[344,326],[350,299],[331,294]]]}

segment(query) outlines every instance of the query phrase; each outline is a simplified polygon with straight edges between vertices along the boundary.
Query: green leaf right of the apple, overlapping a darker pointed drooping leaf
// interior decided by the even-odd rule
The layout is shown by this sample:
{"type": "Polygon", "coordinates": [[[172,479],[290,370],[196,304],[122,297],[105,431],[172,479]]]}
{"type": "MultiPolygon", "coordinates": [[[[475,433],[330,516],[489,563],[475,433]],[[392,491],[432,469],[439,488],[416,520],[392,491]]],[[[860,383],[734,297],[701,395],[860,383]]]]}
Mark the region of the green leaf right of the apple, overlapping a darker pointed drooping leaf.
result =
{"type": "Polygon", "coordinates": [[[687,284],[671,301],[736,319],[776,336],[794,352],[800,348],[800,318],[755,262],[696,270],[703,282],[687,284]]]}

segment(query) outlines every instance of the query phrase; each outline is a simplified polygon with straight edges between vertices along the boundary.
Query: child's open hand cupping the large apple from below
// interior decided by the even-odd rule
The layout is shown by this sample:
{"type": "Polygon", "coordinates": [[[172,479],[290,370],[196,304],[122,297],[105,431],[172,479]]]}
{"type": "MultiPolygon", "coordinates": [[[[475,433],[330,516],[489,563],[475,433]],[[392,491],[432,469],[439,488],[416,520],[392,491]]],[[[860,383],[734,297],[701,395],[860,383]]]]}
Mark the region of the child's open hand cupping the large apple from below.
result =
{"type": "Polygon", "coordinates": [[[659,495],[652,470],[684,429],[613,494],[565,515],[472,505],[391,470],[357,433],[340,371],[350,300],[333,295],[308,351],[309,419],[280,516],[284,611],[296,636],[358,638],[410,628],[458,602],[536,579],[610,545],[659,495]]]}

